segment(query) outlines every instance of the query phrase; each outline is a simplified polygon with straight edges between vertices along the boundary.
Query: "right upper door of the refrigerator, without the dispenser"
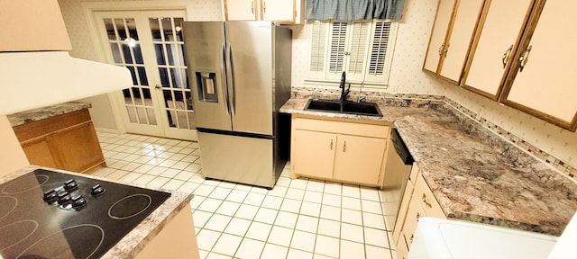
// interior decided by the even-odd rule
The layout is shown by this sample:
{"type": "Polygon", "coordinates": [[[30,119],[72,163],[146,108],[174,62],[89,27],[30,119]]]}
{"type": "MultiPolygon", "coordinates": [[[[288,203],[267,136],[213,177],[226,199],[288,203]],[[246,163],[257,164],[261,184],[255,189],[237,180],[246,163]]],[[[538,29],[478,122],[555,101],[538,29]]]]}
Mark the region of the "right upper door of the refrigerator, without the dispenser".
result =
{"type": "Polygon", "coordinates": [[[272,23],[224,22],[233,130],[272,135],[272,23]]]}

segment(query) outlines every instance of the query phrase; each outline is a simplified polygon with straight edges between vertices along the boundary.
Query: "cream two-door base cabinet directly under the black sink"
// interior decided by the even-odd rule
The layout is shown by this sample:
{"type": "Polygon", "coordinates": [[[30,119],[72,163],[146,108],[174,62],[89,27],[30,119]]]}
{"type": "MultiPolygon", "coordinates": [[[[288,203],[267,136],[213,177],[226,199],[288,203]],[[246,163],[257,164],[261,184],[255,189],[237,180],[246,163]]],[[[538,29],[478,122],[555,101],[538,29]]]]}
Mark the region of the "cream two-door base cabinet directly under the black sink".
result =
{"type": "Polygon", "coordinates": [[[389,125],[293,116],[293,177],[380,186],[389,125]]]}

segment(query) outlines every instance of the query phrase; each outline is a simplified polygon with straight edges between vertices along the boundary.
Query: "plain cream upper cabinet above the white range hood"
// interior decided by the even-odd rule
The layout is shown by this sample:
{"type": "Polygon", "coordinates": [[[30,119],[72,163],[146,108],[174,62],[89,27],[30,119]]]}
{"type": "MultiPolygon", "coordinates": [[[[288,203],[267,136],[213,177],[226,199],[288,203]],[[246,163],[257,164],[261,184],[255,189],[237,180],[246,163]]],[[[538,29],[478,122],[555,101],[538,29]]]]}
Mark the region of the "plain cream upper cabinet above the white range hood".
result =
{"type": "Polygon", "coordinates": [[[0,52],[70,50],[57,0],[0,1],[0,52]]]}

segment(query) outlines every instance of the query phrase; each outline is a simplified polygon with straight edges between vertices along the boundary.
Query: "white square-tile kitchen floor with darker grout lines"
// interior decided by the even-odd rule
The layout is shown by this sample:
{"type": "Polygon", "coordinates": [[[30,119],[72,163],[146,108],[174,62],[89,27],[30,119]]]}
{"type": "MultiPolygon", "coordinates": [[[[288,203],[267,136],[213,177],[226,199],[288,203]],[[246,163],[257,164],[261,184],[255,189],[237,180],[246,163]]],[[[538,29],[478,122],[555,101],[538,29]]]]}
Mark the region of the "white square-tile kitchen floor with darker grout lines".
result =
{"type": "Polygon", "coordinates": [[[98,132],[107,168],[94,174],[193,192],[201,258],[395,258],[377,190],[289,178],[273,190],[205,181],[198,144],[98,132]],[[391,253],[392,252],[392,253],[391,253]]]}

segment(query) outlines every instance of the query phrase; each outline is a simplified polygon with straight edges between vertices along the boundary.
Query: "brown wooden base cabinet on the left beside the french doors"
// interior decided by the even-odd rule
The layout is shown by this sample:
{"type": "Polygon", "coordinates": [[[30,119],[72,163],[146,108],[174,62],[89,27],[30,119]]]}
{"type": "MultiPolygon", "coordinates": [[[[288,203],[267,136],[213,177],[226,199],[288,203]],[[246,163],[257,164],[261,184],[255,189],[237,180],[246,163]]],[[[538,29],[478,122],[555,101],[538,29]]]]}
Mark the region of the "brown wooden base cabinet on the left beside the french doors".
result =
{"type": "Polygon", "coordinates": [[[30,164],[72,172],[105,166],[105,158],[87,109],[15,126],[30,164]]]}

